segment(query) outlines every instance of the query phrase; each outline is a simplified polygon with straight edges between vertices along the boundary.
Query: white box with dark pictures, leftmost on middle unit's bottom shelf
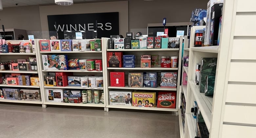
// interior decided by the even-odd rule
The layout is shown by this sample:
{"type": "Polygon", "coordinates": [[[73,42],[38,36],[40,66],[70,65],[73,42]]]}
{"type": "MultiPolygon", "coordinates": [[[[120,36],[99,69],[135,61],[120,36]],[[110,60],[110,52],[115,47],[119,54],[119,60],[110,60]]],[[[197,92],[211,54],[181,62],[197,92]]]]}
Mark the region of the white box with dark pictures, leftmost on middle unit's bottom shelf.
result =
{"type": "Polygon", "coordinates": [[[63,103],[63,90],[62,89],[46,89],[47,102],[63,103]]]}

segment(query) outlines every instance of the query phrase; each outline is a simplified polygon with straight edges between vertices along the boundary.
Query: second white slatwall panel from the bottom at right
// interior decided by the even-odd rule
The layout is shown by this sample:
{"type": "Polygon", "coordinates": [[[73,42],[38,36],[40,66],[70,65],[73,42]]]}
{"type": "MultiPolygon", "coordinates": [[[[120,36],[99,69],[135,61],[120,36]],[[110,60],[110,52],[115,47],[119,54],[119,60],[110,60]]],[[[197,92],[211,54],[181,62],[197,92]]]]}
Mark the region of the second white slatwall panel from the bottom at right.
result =
{"type": "Polygon", "coordinates": [[[256,124],[255,114],[256,107],[225,105],[223,122],[256,124]]]}

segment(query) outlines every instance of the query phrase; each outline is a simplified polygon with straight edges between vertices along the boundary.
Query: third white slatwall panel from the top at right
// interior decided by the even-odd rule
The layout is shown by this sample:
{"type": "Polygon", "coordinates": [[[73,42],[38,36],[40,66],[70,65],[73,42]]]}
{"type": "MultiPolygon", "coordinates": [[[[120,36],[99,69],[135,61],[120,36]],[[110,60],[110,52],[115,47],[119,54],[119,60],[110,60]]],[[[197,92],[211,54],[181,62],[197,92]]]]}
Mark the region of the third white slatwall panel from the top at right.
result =
{"type": "MultiPolygon", "coordinates": [[[[256,1],[255,1],[256,2],[256,1]]],[[[255,8],[256,10],[256,8],[255,8]]],[[[256,60],[255,39],[234,39],[231,59],[253,59],[256,60]],[[248,50],[250,49],[250,50],[248,50]]]]}

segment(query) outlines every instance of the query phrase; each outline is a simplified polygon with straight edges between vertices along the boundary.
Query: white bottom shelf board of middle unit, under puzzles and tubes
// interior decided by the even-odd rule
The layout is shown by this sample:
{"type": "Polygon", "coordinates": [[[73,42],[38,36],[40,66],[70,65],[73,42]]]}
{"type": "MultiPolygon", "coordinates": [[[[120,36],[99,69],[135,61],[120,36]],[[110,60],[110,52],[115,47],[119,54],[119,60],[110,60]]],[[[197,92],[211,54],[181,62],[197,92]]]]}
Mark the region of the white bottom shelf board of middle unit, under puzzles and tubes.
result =
{"type": "Polygon", "coordinates": [[[95,104],[95,103],[79,103],[79,104],[74,104],[74,103],[57,103],[57,102],[44,102],[43,104],[45,105],[58,105],[58,106],[82,106],[82,107],[105,107],[104,104],[95,104]]]}

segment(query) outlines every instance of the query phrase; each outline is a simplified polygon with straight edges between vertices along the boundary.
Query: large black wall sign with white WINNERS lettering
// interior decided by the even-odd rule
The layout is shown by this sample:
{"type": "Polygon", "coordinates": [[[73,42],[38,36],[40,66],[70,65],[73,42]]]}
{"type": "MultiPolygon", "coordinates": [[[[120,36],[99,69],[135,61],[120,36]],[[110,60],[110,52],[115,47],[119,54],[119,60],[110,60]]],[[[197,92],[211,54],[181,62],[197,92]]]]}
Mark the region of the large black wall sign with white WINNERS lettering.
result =
{"type": "Polygon", "coordinates": [[[67,35],[70,31],[82,32],[86,36],[83,39],[95,37],[96,29],[97,38],[119,34],[118,12],[48,15],[47,18],[50,36],[56,36],[57,30],[59,39],[64,39],[64,34],[67,35]]]}

